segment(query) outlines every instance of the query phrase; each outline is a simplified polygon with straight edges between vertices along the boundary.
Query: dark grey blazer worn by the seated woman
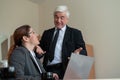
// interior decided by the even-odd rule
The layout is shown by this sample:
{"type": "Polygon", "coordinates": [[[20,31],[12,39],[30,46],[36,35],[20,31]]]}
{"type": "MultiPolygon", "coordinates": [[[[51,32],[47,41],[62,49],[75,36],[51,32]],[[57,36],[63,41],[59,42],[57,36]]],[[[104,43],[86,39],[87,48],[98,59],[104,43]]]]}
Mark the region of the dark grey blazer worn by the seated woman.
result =
{"type": "MultiPolygon", "coordinates": [[[[39,66],[42,67],[39,59],[39,66]]],[[[41,73],[31,55],[25,47],[17,47],[9,60],[9,65],[14,66],[16,70],[16,78],[18,80],[41,80],[41,73]]],[[[44,69],[42,68],[44,72],[44,69]]]]}

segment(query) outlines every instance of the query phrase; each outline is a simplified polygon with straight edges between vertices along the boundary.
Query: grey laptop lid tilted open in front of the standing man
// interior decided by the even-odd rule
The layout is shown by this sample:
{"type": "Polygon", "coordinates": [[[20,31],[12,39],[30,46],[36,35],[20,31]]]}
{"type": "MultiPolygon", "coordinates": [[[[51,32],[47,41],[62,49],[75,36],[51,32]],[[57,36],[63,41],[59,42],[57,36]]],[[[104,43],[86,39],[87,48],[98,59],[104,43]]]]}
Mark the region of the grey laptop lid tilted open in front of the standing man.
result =
{"type": "Polygon", "coordinates": [[[93,62],[93,57],[72,53],[63,80],[88,79],[93,62]]]}

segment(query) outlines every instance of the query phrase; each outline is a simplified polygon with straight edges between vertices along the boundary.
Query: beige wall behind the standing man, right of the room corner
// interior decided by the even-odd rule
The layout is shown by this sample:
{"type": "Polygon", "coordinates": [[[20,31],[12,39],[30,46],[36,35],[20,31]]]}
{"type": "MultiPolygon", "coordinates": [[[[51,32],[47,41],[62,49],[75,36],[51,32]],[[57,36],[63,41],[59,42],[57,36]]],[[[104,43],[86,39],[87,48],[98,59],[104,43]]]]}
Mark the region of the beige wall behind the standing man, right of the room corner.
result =
{"type": "Polygon", "coordinates": [[[69,7],[69,25],[82,30],[92,44],[96,78],[120,78],[120,0],[45,0],[43,26],[53,27],[52,11],[57,5],[69,7]]]}

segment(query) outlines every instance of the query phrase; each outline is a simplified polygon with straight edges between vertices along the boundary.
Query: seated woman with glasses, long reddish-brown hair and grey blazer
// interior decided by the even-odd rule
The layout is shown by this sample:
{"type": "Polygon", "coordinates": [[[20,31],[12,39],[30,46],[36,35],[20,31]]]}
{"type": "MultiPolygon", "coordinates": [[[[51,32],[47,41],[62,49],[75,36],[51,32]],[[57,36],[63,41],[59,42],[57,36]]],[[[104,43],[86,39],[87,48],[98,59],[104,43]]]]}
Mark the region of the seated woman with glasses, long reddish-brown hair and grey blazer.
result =
{"type": "MultiPolygon", "coordinates": [[[[16,79],[41,80],[41,74],[46,71],[34,53],[35,46],[39,44],[37,34],[29,25],[23,25],[15,30],[13,39],[14,45],[8,52],[8,62],[9,66],[15,67],[16,79]]],[[[59,79],[55,73],[53,77],[59,79]]]]}

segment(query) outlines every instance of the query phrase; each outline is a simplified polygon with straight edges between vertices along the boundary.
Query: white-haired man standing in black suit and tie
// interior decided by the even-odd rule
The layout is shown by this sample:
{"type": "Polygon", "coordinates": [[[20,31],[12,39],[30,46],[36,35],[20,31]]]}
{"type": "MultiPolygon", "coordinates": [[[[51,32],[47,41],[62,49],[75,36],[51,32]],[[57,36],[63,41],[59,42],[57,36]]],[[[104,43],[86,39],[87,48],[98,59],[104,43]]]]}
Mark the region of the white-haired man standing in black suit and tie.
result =
{"type": "Polygon", "coordinates": [[[61,79],[72,52],[87,55],[81,31],[67,25],[69,15],[67,6],[58,6],[54,11],[55,27],[45,30],[40,40],[40,47],[46,51],[44,68],[61,79]]]}

